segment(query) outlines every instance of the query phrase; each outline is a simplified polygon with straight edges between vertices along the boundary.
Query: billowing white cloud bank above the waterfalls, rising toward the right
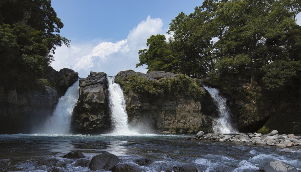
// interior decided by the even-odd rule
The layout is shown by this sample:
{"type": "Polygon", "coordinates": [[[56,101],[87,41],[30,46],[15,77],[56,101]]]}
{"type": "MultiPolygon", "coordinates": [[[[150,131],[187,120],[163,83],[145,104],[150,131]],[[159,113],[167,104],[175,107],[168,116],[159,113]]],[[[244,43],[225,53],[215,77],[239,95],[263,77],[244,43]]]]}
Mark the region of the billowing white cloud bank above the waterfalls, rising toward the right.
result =
{"type": "Polygon", "coordinates": [[[138,51],[146,48],[146,40],[152,34],[165,34],[162,26],[160,18],[148,16],[129,31],[126,39],[116,43],[100,41],[97,46],[91,42],[72,45],[70,48],[58,47],[51,66],[55,70],[71,68],[82,78],[87,77],[90,71],[116,75],[122,70],[133,69],[145,73],[145,66],[135,68],[136,63],[139,63],[138,51]]]}

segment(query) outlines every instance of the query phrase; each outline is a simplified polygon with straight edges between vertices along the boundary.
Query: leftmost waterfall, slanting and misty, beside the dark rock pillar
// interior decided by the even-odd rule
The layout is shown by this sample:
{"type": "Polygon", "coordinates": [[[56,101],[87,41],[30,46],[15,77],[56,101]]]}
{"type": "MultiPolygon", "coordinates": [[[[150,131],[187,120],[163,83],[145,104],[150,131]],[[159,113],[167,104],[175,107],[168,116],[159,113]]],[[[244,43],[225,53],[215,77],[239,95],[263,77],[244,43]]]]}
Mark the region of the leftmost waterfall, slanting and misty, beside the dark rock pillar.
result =
{"type": "Polygon", "coordinates": [[[51,116],[44,125],[45,134],[68,134],[71,123],[71,115],[74,105],[78,99],[78,82],[75,82],[69,87],[64,96],[62,96],[56,108],[51,116]]]}

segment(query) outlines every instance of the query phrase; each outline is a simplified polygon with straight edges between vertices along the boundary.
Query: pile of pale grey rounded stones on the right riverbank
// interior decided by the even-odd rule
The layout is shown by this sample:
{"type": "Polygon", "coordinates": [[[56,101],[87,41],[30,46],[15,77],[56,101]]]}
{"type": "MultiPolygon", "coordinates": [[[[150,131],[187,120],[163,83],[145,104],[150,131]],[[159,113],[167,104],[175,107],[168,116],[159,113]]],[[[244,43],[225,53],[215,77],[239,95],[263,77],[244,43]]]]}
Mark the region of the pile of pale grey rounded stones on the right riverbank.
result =
{"type": "MultiPolygon", "coordinates": [[[[187,138],[189,139],[189,138],[187,138]]],[[[212,142],[232,142],[241,144],[252,144],[259,146],[279,146],[279,147],[292,147],[301,146],[301,136],[294,134],[278,134],[277,130],[273,130],[269,134],[249,133],[249,134],[220,134],[209,133],[205,134],[203,131],[198,132],[195,137],[190,138],[194,140],[208,140],[212,142]]]]}

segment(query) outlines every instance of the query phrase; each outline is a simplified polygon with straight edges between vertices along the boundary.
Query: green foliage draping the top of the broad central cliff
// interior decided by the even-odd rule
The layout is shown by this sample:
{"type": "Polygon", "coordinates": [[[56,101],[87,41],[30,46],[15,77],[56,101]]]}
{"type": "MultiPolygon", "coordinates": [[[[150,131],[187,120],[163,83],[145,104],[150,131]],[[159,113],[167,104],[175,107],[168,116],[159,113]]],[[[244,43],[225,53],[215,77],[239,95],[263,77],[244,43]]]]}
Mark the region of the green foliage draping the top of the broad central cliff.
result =
{"type": "Polygon", "coordinates": [[[176,96],[191,96],[195,99],[202,99],[205,94],[200,89],[201,83],[198,79],[192,80],[182,74],[174,78],[161,78],[159,80],[148,80],[136,74],[127,78],[117,78],[117,83],[120,84],[125,93],[133,90],[140,94],[156,96],[173,94],[176,96]]]}

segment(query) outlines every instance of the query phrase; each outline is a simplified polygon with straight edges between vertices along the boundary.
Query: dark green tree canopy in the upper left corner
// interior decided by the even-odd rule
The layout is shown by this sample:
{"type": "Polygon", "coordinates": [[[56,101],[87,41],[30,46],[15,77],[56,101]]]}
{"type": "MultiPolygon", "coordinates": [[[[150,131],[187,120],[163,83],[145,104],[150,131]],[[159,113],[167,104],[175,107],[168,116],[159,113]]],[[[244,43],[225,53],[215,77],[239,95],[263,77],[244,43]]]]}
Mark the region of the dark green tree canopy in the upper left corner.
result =
{"type": "Polygon", "coordinates": [[[22,90],[34,84],[53,60],[55,47],[70,45],[59,34],[63,26],[50,0],[2,0],[0,86],[22,90]]]}

